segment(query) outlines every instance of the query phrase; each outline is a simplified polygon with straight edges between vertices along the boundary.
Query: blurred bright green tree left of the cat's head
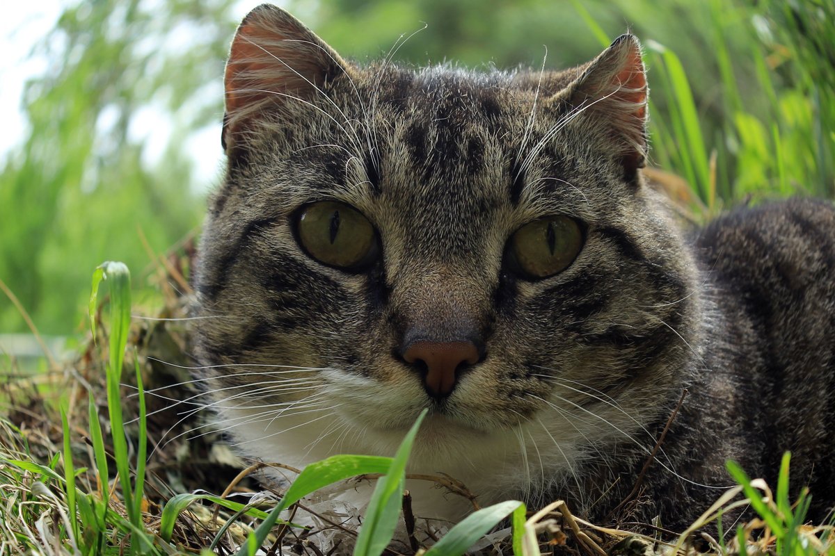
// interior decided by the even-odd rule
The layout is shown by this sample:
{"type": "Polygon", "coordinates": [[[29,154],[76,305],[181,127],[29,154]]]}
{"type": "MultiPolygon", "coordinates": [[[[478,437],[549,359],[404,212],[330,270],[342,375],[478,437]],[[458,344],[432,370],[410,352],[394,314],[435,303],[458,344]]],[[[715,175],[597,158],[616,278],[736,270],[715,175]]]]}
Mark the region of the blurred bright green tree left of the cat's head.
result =
{"type": "MultiPolygon", "coordinates": [[[[0,277],[44,333],[74,328],[104,259],[147,265],[138,227],[163,250],[200,222],[183,143],[220,119],[230,3],[82,2],[38,47],[48,71],[27,83],[28,137],[0,173],[0,277]],[[169,144],[148,144],[149,125],[169,144]]],[[[0,301],[0,330],[22,328],[0,301]]]]}

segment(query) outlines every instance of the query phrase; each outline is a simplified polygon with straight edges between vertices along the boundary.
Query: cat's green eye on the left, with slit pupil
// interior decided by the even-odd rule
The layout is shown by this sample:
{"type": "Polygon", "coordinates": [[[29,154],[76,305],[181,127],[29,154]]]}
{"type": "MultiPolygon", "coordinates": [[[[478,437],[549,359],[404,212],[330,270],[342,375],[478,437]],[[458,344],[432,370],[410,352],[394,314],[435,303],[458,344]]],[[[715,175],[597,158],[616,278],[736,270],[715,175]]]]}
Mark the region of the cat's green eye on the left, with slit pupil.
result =
{"type": "Polygon", "coordinates": [[[301,209],[296,223],[299,243],[320,263],[346,270],[371,264],[379,251],[368,218],[345,203],[322,201],[301,209]]]}

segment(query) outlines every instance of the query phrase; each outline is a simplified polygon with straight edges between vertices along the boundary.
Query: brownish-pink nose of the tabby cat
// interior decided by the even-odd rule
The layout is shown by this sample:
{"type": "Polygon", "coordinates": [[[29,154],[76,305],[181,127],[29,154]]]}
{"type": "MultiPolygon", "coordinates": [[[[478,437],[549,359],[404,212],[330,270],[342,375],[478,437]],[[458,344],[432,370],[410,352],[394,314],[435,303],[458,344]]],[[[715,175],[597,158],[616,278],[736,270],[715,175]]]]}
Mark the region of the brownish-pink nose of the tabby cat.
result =
{"type": "Polygon", "coordinates": [[[458,367],[478,363],[478,349],[472,342],[415,342],[403,353],[403,358],[407,363],[426,364],[426,388],[441,397],[453,391],[458,367]]]}

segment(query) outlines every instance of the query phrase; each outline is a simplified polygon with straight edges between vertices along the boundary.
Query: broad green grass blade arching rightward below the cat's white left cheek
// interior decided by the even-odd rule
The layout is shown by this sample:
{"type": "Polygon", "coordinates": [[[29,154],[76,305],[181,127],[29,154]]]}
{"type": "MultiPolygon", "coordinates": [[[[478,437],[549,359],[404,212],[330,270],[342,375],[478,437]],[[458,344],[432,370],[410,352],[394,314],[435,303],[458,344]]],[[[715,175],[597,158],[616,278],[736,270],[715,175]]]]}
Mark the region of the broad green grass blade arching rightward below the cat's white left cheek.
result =
{"type": "Polygon", "coordinates": [[[337,483],[346,478],[356,477],[366,473],[386,473],[391,466],[392,458],[380,456],[352,456],[338,455],[331,456],[320,462],[311,463],[302,471],[295,481],[287,489],[284,498],[276,508],[266,516],[261,525],[250,535],[244,546],[240,547],[237,556],[246,556],[250,543],[261,546],[266,540],[270,529],[278,521],[278,516],[291,504],[298,502],[307,494],[316,492],[329,484],[337,483]]]}

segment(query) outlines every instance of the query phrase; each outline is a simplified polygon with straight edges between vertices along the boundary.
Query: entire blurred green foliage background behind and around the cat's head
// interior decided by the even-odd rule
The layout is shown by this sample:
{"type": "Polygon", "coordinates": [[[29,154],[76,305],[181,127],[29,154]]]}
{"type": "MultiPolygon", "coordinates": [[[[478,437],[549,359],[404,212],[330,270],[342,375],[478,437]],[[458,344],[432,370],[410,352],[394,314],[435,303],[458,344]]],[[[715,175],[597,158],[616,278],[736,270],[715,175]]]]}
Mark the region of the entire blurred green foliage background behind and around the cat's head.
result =
{"type": "MultiPolygon", "coordinates": [[[[686,184],[697,219],[751,197],[835,196],[832,0],[281,5],[361,63],[393,48],[414,65],[563,68],[629,29],[650,72],[651,161],[686,184]]],[[[134,288],[153,296],[149,252],[199,230],[222,168],[225,55],[254,6],[83,0],[43,38],[50,63],[25,88],[28,129],[0,161],[0,278],[42,333],[81,329],[103,260],[128,263],[134,288]],[[205,133],[216,150],[200,152],[205,133]],[[214,178],[197,171],[215,158],[214,178]]],[[[0,332],[25,329],[0,297],[0,332]]]]}

